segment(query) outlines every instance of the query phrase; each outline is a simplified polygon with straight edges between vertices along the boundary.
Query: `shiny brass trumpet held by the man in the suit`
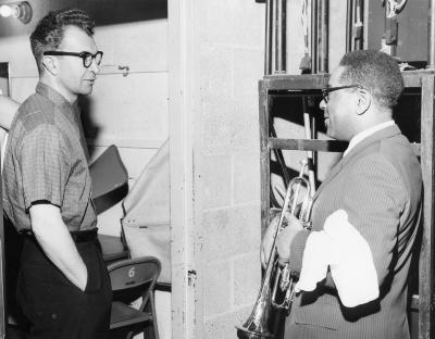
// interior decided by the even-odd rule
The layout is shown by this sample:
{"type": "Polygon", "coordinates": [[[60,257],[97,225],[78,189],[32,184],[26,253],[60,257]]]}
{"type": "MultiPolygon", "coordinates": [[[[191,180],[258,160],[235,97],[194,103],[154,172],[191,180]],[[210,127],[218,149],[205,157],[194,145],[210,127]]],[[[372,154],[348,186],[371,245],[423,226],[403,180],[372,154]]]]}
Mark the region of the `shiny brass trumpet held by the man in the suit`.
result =
{"type": "Polygon", "coordinates": [[[275,242],[279,231],[286,226],[287,213],[301,221],[304,227],[310,227],[314,189],[310,181],[303,177],[307,161],[303,161],[299,175],[288,184],[256,304],[244,325],[236,326],[239,339],[274,338],[274,335],[269,329],[272,307],[285,310],[287,313],[290,311],[295,293],[295,276],[290,272],[288,264],[283,268],[279,267],[275,242]],[[278,287],[284,293],[282,302],[277,301],[278,287]]]}

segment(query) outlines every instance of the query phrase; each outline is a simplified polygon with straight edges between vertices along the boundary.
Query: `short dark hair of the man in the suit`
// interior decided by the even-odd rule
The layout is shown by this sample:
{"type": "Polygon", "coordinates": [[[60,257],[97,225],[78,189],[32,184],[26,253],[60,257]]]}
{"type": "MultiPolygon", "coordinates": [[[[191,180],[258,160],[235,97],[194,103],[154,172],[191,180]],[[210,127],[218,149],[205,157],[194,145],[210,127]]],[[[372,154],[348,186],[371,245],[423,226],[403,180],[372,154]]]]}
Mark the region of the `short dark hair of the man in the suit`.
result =
{"type": "Polygon", "coordinates": [[[344,85],[360,85],[369,90],[382,108],[393,109],[403,90],[403,78],[397,61],[377,50],[345,54],[339,63],[344,85]]]}

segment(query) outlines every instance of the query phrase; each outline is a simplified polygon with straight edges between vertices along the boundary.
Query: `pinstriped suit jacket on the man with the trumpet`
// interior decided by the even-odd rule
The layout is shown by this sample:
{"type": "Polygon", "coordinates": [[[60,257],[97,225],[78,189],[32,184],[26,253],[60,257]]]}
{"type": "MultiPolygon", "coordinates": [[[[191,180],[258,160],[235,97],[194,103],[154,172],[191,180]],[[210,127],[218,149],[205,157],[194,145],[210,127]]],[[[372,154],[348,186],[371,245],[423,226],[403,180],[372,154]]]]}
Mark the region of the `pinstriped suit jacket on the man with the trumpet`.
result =
{"type": "Polygon", "coordinates": [[[345,210],[370,246],[381,296],[347,309],[327,278],[313,292],[295,298],[285,338],[409,338],[407,282],[421,206],[421,167],[396,125],[350,150],[314,196],[313,230],[321,230],[333,212],[345,210]]]}

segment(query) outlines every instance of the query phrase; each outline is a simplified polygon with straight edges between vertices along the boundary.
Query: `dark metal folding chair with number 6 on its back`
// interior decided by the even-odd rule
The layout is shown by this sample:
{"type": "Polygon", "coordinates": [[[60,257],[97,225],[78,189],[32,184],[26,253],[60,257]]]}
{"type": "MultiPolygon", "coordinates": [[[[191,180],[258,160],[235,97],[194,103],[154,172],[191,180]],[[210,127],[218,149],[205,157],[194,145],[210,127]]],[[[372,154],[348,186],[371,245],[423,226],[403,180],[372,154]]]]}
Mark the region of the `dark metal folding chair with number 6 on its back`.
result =
{"type": "Polygon", "coordinates": [[[160,261],[154,256],[127,259],[109,265],[108,271],[113,291],[110,338],[130,339],[142,331],[144,338],[159,339],[154,285],[160,261]],[[130,303],[140,297],[139,309],[132,307],[130,303]]]}

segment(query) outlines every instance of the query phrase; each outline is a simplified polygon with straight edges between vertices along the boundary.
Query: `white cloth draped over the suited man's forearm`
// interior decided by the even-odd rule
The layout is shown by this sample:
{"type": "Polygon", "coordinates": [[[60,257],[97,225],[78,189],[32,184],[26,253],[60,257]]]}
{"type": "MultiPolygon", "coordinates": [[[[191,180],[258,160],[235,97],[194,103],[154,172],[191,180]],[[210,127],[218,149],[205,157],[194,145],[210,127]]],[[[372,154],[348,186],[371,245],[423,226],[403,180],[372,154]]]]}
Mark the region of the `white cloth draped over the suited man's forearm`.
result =
{"type": "Polygon", "coordinates": [[[328,267],[345,306],[355,307],[380,296],[369,243],[348,222],[344,210],[331,214],[324,229],[312,231],[308,237],[295,291],[314,290],[326,277],[328,267]]]}

